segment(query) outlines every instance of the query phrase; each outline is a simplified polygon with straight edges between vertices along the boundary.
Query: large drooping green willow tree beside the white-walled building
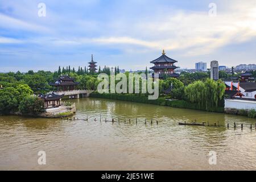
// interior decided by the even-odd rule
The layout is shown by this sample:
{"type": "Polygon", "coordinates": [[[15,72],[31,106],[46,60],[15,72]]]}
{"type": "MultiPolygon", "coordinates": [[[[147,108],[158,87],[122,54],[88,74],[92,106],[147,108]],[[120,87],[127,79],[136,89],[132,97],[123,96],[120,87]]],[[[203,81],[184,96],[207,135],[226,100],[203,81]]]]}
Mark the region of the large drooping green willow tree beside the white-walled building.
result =
{"type": "Polygon", "coordinates": [[[205,107],[208,111],[213,111],[218,106],[218,101],[222,100],[224,93],[224,82],[209,78],[205,82],[195,81],[185,87],[187,100],[198,104],[201,108],[205,107]]]}

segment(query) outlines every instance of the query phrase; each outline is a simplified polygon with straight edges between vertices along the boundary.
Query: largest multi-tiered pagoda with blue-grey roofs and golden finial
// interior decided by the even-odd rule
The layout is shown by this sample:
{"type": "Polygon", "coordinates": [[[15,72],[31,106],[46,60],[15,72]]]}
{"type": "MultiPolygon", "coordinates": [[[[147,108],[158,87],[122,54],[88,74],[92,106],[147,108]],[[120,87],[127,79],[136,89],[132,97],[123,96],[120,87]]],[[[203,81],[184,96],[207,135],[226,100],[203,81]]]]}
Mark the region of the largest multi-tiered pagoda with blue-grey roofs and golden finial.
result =
{"type": "MultiPolygon", "coordinates": [[[[176,78],[180,76],[179,74],[175,73],[175,69],[177,67],[174,65],[174,63],[177,63],[177,61],[166,56],[164,50],[162,56],[158,57],[158,59],[155,59],[154,61],[151,61],[150,63],[155,64],[155,66],[151,67],[150,69],[153,69],[154,73],[158,73],[160,79],[163,79],[164,77],[176,78]]],[[[154,74],[152,77],[154,77],[154,74]]]]}

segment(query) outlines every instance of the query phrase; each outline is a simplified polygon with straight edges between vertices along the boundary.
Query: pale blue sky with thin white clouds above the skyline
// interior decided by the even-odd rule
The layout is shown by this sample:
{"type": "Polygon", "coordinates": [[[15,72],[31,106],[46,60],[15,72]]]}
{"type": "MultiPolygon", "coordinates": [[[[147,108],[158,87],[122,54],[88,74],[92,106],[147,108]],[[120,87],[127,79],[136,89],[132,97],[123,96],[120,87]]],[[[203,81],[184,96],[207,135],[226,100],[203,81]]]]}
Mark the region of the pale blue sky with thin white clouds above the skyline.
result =
{"type": "Polygon", "coordinates": [[[92,54],[137,71],[163,49],[181,68],[256,64],[256,1],[0,1],[0,72],[77,69],[92,54]]]}

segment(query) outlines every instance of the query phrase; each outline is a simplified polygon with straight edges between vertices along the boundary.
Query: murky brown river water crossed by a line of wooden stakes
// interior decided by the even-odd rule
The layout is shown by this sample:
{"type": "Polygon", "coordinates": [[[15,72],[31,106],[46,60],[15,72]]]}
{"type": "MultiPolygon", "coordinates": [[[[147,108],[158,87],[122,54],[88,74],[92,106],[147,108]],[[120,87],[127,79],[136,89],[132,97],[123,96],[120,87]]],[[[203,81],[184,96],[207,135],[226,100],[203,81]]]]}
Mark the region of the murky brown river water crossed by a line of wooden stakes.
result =
{"type": "Polygon", "coordinates": [[[76,102],[75,117],[88,116],[89,121],[0,117],[0,169],[256,169],[256,119],[98,98],[71,102],[76,102]],[[120,118],[121,123],[104,121],[112,117],[120,118]],[[159,124],[154,121],[151,125],[151,118],[159,124]],[[178,125],[195,119],[210,125],[219,121],[221,126],[178,125]],[[233,122],[237,123],[237,129],[233,128],[233,122]],[[38,164],[39,151],[46,152],[46,165],[38,164]],[[210,151],[217,152],[216,165],[208,162],[210,151]]]}

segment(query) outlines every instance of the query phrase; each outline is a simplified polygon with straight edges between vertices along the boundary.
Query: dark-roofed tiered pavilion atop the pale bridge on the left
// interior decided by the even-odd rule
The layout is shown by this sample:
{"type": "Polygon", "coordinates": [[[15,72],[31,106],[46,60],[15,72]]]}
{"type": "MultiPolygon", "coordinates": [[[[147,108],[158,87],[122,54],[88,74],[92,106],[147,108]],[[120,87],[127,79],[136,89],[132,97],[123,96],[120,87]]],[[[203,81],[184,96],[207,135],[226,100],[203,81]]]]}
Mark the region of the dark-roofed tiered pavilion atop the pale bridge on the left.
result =
{"type": "Polygon", "coordinates": [[[52,86],[52,90],[59,91],[72,91],[77,90],[79,82],[75,82],[75,78],[71,78],[67,75],[59,77],[54,83],[49,83],[52,86]]]}

